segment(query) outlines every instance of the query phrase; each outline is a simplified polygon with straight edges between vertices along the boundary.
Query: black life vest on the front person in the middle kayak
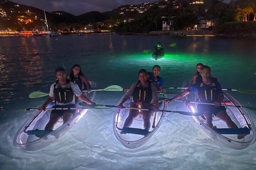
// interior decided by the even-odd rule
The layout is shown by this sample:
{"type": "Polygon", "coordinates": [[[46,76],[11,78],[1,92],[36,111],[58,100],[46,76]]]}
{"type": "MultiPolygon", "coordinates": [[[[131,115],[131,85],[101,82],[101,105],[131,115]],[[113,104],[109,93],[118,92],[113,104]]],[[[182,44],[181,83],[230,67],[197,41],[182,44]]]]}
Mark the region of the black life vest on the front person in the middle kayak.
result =
{"type": "MultiPolygon", "coordinates": [[[[147,80],[148,81],[148,80],[147,80]]],[[[140,85],[140,81],[138,81],[138,84],[136,85],[136,88],[133,92],[132,102],[142,102],[142,103],[153,103],[152,98],[152,90],[150,88],[151,82],[149,81],[148,87],[142,87],[140,85]]]]}

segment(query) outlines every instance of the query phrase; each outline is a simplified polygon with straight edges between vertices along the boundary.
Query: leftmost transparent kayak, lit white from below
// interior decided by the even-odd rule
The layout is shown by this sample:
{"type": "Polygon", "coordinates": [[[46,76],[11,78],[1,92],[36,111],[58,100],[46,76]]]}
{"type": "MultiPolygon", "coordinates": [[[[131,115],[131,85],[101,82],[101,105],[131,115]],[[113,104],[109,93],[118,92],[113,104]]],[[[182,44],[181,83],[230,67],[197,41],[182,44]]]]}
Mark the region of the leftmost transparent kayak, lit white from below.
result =
{"type": "MultiPolygon", "coordinates": [[[[95,82],[89,82],[92,87],[96,87],[95,82]]],[[[90,100],[93,100],[96,95],[96,91],[92,91],[87,94],[87,97],[90,100]]],[[[50,108],[48,106],[47,108],[50,108]]],[[[31,116],[18,130],[14,137],[13,144],[16,147],[20,147],[24,150],[39,150],[44,147],[47,147],[54,141],[61,138],[64,134],[66,134],[69,129],[71,129],[87,112],[86,110],[79,110],[72,119],[70,119],[65,124],[62,123],[62,119],[59,120],[58,123],[54,126],[53,131],[49,131],[50,133],[46,134],[42,138],[37,138],[35,135],[29,135],[29,132],[33,132],[33,130],[40,129],[43,130],[45,125],[48,123],[50,119],[51,110],[46,111],[37,111],[34,116],[31,116]],[[62,125],[63,124],[63,125],[62,125]]]]}

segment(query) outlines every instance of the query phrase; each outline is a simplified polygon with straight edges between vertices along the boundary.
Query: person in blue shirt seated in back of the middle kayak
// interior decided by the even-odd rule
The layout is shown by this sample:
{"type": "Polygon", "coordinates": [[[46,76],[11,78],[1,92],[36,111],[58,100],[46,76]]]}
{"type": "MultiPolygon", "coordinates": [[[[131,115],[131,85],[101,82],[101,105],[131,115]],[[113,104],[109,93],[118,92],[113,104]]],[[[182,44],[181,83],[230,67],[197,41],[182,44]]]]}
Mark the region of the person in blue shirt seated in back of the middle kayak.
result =
{"type": "Polygon", "coordinates": [[[152,81],[156,86],[156,91],[160,93],[162,91],[162,87],[164,86],[164,80],[159,76],[161,72],[161,67],[158,65],[153,66],[153,73],[148,72],[148,78],[152,81]]]}

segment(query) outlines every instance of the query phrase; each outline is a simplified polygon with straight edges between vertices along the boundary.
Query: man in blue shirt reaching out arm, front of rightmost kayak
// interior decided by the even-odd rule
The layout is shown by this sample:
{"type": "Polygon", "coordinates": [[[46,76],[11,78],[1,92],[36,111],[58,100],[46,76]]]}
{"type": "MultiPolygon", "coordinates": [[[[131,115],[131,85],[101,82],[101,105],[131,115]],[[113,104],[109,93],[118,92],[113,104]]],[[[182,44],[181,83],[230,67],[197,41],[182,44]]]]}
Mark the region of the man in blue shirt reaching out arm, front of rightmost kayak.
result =
{"type": "MultiPolygon", "coordinates": [[[[221,102],[224,99],[222,88],[219,82],[215,78],[211,78],[211,68],[209,66],[203,66],[201,69],[202,81],[190,86],[184,92],[181,92],[171,99],[165,100],[165,104],[169,104],[172,101],[186,96],[189,93],[198,92],[198,97],[201,102],[214,103],[214,105],[199,104],[197,110],[203,112],[203,116],[206,119],[206,125],[213,128],[213,116],[214,114],[219,119],[226,122],[229,128],[238,128],[232,121],[226,112],[226,108],[221,106],[221,102]]],[[[216,128],[216,126],[214,127],[216,128]]],[[[242,139],[246,134],[238,134],[237,138],[242,139]]]]}

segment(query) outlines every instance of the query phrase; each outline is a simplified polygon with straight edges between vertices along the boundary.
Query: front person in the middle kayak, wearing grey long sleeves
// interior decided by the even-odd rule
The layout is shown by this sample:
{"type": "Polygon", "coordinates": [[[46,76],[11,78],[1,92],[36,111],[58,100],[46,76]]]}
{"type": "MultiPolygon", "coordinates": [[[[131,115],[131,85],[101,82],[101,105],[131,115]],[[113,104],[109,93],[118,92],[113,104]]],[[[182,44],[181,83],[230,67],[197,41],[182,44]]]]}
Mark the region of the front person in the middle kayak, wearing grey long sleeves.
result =
{"type": "MultiPolygon", "coordinates": [[[[158,112],[158,97],[155,85],[147,80],[148,73],[145,69],[139,70],[139,81],[133,83],[130,90],[126,92],[123,100],[118,104],[117,108],[123,109],[123,104],[132,98],[130,107],[152,109],[154,111],[130,110],[129,116],[126,118],[123,127],[130,127],[133,120],[142,113],[144,120],[144,128],[149,130],[150,117],[154,112],[158,112]]],[[[123,134],[123,132],[121,132],[123,134]]]]}

